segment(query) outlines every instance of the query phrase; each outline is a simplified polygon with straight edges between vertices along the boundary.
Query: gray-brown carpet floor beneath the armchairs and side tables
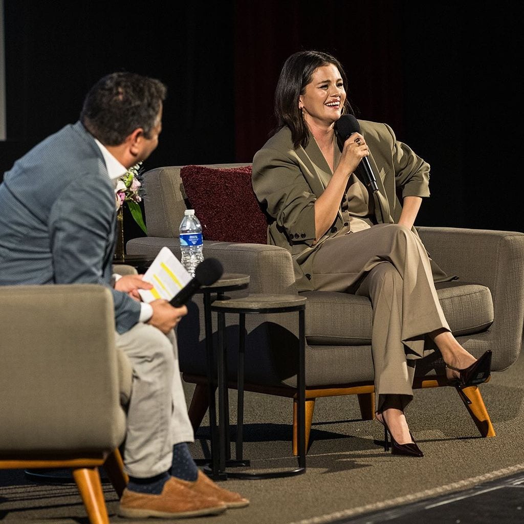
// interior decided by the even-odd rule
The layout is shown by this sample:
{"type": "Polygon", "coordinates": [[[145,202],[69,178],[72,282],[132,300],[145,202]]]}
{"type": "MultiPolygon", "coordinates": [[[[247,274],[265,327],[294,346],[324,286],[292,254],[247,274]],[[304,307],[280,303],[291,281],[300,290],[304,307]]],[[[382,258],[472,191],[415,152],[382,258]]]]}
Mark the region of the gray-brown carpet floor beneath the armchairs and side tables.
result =
{"type": "MultiPolygon", "coordinates": [[[[523,377],[524,355],[521,355],[516,364],[505,372],[493,374],[492,380],[481,386],[497,432],[490,439],[478,436],[454,389],[416,391],[406,416],[425,453],[422,459],[385,453],[381,447],[381,426],[376,421],[358,420],[356,398],[319,399],[307,473],[258,481],[230,479],[221,485],[248,497],[250,506],[190,522],[340,522],[515,475],[524,471],[523,377]]],[[[186,389],[189,399],[192,386],[187,385],[186,389]]],[[[235,400],[232,392],[233,416],[235,400]]],[[[252,461],[250,471],[296,466],[296,459],[291,457],[291,413],[289,399],[246,394],[244,456],[252,461]]],[[[191,446],[195,458],[208,453],[208,436],[204,420],[191,446]]],[[[104,484],[104,489],[111,522],[129,522],[115,516],[116,495],[109,484],[104,484]]],[[[35,484],[18,470],[0,472],[0,521],[87,523],[74,485],[35,484]]],[[[456,520],[447,520],[442,515],[441,522],[456,520]]]]}

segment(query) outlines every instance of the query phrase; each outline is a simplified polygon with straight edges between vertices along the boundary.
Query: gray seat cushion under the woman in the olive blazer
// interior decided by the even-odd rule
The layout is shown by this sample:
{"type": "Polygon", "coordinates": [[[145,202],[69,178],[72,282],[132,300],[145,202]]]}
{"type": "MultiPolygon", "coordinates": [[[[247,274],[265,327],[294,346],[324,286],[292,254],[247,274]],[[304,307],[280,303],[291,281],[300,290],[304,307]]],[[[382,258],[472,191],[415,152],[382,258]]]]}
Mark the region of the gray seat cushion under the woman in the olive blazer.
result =
{"type": "MultiPolygon", "coordinates": [[[[478,284],[442,282],[435,285],[442,310],[455,335],[486,330],[493,323],[489,289],[478,284]]],[[[304,291],[305,335],[310,345],[371,343],[373,311],[366,297],[334,291],[304,291]]]]}

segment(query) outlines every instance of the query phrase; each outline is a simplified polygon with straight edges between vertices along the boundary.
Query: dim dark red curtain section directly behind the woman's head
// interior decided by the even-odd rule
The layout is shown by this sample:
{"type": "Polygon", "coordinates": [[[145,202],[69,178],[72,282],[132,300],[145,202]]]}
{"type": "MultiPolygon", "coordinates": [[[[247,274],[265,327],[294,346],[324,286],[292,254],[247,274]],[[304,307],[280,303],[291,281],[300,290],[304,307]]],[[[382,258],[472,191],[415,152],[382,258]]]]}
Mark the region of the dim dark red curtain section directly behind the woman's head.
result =
{"type": "Polygon", "coordinates": [[[392,2],[267,0],[235,8],[235,144],[251,161],[275,126],[273,97],[286,58],[300,50],[343,64],[359,117],[402,129],[401,11],[392,2]]]}

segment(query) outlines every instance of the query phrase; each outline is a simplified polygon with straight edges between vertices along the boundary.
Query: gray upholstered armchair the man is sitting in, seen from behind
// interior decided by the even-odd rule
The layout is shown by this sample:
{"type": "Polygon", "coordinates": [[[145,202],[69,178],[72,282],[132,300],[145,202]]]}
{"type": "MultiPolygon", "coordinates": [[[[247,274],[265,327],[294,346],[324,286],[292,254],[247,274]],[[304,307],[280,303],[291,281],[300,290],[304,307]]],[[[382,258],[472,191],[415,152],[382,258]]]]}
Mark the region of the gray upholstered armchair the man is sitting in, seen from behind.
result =
{"type": "Polygon", "coordinates": [[[132,371],[114,345],[113,297],[96,285],[0,287],[0,470],[72,468],[92,524],[100,475],[127,483],[118,446],[132,371]]]}

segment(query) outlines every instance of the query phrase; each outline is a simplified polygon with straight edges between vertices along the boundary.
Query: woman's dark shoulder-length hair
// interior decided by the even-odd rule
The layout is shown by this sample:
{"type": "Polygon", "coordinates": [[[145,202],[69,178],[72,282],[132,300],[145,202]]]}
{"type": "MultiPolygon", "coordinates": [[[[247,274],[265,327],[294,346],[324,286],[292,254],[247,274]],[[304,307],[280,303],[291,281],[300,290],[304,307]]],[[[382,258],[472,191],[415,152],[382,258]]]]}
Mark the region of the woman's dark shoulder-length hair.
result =
{"type": "MultiPolygon", "coordinates": [[[[275,91],[275,133],[283,126],[288,126],[295,149],[299,145],[305,147],[309,139],[308,126],[298,106],[299,97],[304,94],[305,86],[311,82],[315,69],[329,64],[333,64],[339,70],[347,92],[346,73],[341,63],[331,54],[321,51],[299,51],[292,54],[282,67],[275,91]]],[[[346,113],[353,114],[347,97],[344,109],[346,113]]]]}

